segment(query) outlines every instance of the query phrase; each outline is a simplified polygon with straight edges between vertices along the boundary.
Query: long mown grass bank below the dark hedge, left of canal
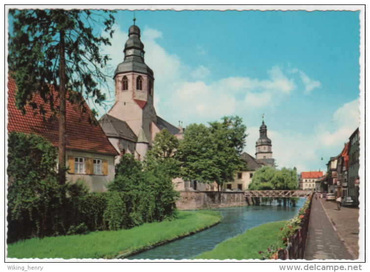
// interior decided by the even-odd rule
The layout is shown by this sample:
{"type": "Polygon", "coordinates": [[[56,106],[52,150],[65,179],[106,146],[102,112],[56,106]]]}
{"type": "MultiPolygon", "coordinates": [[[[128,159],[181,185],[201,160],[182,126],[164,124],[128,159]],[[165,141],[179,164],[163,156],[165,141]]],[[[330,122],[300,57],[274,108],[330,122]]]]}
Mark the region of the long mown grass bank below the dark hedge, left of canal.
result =
{"type": "Polygon", "coordinates": [[[131,229],[87,235],[32,238],[8,245],[8,258],[114,258],[184,237],[219,223],[219,212],[179,211],[173,221],[145,223],[131,229]]]}

